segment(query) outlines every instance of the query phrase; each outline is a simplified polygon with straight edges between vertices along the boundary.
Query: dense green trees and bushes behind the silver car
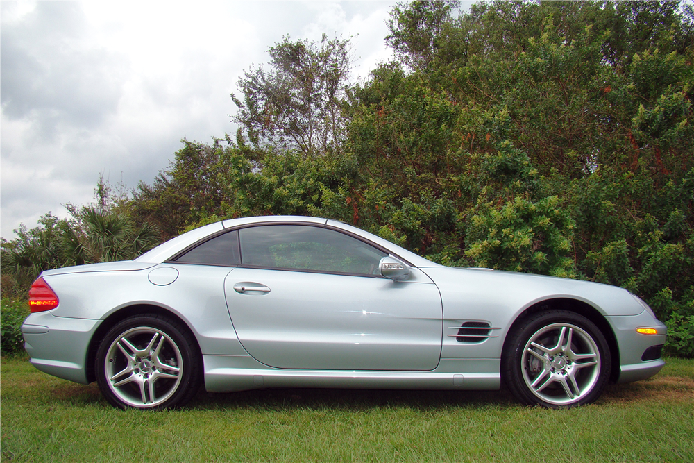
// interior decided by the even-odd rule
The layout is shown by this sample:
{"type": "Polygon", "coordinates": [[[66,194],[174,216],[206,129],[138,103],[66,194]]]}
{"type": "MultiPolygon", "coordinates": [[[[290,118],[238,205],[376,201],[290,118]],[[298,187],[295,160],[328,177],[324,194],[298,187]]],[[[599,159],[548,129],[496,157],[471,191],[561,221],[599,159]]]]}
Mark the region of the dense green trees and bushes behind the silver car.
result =
{"type": "MultiPolygon", "coordinates": [[[[691,3],[457,7],[393,8],[396,60],[358,85],[348,40],[286,37],[239,81],[236,134],[184,140],[109,213],[161,239],[228,217],[330,217],[446,265],[620,285],[694,355],[691,3]]],[[[48,228],[3,244],[3,278],[48,228]]]]}

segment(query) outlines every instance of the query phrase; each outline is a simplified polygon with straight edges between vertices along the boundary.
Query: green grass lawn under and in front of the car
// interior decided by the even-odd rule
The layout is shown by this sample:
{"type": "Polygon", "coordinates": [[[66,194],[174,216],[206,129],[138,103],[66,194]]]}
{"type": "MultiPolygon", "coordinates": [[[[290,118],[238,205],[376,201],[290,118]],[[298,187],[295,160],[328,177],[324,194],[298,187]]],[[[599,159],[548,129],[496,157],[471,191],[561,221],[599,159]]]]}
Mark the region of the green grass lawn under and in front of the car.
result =
{"type": "Polygon", "coordinates": [[[694,461],[694,360],[560,411],[504,391],[282,389],[139,412],[22,357],[0,380],[3,461],[694,461]]]}

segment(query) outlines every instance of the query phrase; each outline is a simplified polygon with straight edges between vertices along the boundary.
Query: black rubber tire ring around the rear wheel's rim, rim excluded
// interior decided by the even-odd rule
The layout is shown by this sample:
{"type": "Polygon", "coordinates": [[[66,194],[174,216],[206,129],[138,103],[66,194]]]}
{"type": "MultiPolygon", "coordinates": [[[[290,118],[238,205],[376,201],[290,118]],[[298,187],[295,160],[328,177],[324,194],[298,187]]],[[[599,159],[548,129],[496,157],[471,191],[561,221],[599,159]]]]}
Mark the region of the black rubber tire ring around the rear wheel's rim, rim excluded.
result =
{"type": "MultiPolygon", "coordinates": [[[[175,322],[174,322],[175,323],[175,322]]],[[[197,391],[200,382],[197,380],[199,375],[197,368],[198,357],[196,344],[191,342],[183,333],[180,328],[174,326],[169,319],[160,317],[156,314],[143,314],[135,317],[129,317],[116,323],[108,332],[99,344],[99,349],[96,352],[96,382],[101,389],[101,394],[106,398],[106,400],[113,406],[118,408],[137,408],[139,410],[164,410],[167,408],[175,408],[183,405],[185,402],[192,397],[197,391]],[[121,399],[112,392],[109,380],[105,372],[105,361],[108,355],[109,348],[115,339],[124,335],[124,333],[132,328],[153,328],[160,330],[165,335],[171,338],[171,340],[178,347],[180,352],[181,363],[183,368],[180,373],[180,382],[176,392],[171,395],[166,401],[155,405],[153,407],[135,407],[129,403],[121,401],[121,399]],[[192,390],[194,389],[194,390],[192,390]]]]}

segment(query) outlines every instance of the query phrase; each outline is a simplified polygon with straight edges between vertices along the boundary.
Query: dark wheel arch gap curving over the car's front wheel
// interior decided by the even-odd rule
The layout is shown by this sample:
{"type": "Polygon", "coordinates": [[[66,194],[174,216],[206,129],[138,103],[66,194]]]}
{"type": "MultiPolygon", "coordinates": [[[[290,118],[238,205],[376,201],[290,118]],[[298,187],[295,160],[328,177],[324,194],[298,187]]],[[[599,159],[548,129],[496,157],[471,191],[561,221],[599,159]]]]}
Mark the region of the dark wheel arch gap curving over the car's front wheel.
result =
{"type": "Polygon", "coordinates": [[[537,312],[543,312],[545,310],[566,310],[568,312],[574,312],[586,317],[586,319],[592,321],[595,326],[600,329],[602,335],[604,335],[605,339],[607,340],[610,356],[612,358],[612,368],[610,371],[609,381],[611,383],[616,382],[617,378],[619,377],[619,348],[614,331],[612,330],[612,327],[607,319],[605,319],[604,315],[601,314],[598,309],[594,308],[589,303],[579,301],[578,299],[567,297],[550,298],[544,301],[536,302],[523,310],[523,312],[518,314],[518,317],[516,317],[514,322],[511,323],[511,326],[509,327],[501,351],[502,359],[508,351],[507,343],[509,343],[509,339],[512,337],[511,334],[518,328],[518,326],[521,325],[521,323],[523,323],[523,321],[530,315],[537,312]]]}

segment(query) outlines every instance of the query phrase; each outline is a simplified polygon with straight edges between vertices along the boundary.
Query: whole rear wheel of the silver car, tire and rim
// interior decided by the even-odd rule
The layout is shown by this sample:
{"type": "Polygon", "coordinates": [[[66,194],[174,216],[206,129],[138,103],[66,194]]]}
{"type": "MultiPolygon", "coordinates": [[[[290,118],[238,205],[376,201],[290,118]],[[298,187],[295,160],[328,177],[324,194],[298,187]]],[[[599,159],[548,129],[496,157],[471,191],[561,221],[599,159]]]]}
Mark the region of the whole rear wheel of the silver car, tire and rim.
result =
{"type": "Polygon", "coordinates": [[[159,314],[113,326],[99,346],[95,367],[101,394],[118,408],[180,407],[202,380],[196,340],[178,320],[159,314]]]}

